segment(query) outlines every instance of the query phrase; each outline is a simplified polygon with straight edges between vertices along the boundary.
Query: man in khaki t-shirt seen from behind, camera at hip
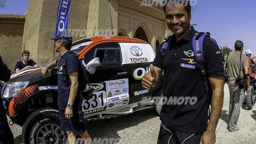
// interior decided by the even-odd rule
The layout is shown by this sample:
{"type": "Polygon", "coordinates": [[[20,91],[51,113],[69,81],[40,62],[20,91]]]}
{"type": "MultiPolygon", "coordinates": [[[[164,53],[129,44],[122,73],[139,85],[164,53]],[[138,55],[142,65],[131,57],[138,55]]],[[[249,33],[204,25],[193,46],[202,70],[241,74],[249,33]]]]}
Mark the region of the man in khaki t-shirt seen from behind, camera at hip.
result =
{"type": "Polygon", "coordinates": [[[245,82],[247,92],[250,92],[250,75],[248,73],[249,63],[247,56],[242,54],[244,43],[237,40],[235,43],[235,52],[229,53],[227,58],[228,68],[228,89],[229,89],[229,122],[228,131],[235,132],[239,130],[236,126],[240,115],[240,107],[244,101],[245,82]]]}

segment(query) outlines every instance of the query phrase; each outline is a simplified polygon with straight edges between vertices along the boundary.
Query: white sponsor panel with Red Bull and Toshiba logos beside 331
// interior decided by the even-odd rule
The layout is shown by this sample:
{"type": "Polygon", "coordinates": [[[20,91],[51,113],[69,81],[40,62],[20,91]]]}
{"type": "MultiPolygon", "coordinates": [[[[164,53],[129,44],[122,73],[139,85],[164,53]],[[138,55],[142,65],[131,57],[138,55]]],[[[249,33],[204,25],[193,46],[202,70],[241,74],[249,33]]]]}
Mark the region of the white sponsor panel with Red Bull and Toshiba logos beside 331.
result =
{"type": "Polygon", "coordinates": [[[107,109],[127,105],[129,102],[128,78],[106,81],[107,109]]]}

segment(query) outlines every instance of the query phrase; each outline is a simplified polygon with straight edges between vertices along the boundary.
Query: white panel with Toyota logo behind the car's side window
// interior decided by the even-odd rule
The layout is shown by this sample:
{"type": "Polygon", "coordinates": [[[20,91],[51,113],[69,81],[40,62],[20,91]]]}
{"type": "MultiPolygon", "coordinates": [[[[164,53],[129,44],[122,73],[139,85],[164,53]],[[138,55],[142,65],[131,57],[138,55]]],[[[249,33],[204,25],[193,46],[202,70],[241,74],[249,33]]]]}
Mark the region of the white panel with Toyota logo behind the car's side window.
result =
{"type": "Polygon", "coordinates": [[[152,61],[145,44],[124,43],[127,64],[144,63],[152,61]]]}

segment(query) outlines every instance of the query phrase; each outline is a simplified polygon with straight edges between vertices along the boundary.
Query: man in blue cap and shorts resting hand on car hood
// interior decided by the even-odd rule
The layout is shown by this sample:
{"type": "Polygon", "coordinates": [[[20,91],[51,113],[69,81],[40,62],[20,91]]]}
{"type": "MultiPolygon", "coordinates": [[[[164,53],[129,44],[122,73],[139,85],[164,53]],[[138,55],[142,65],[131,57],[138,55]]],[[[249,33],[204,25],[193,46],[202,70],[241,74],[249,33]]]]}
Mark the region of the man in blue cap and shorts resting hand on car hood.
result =
{"type": "Polygon", "coordinates": [[[42,68],[41,73],[47,76],[48,69],[58,68],[58,106],[60,116],[60,128],[66,131],[69,144],[76,143],[76,136],[85,138],[84,143],[89,144],[91,137],[86,131],[85,124],[79,123],[78,100],[78,70],[79,61],[75,53],[71,52],[72,35],[67,31],[62,31],[56,37],[51,38],[55,41],[55,52],[59,52],[61,57],[42,68]],[[88,139],[89,138],[89,139],[88,139]]]}

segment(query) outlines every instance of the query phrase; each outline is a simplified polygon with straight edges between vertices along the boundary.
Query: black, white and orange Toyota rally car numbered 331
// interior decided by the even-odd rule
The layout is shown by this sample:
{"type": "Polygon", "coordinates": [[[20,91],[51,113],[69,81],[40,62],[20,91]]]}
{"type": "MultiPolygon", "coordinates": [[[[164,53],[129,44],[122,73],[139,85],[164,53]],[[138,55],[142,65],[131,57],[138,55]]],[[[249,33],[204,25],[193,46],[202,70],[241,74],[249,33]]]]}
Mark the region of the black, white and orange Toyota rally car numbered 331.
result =
{"type": "MultiPolygon", "coordinates": [[[[74,42],[71,51],[85,67],[95,67],[95,59],[100,62],[89,75],[93,96],[81,103],[85,120],[122,116],[155,106],[146,103],[158,93],[141,86],[141,79],[155,58],[145,41],[94,36],[74,42]]],[[[9,123],[22,126],[25,144],[62,144],[67,138],[60,130],[57,79],[57,68],[49,69],[47,77],[42,76],[41,68],[36,68],[13,74],[2,88],[6,114],[12,120],[9,123]]]]}

